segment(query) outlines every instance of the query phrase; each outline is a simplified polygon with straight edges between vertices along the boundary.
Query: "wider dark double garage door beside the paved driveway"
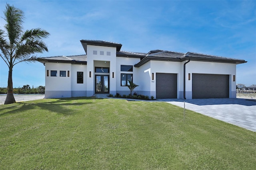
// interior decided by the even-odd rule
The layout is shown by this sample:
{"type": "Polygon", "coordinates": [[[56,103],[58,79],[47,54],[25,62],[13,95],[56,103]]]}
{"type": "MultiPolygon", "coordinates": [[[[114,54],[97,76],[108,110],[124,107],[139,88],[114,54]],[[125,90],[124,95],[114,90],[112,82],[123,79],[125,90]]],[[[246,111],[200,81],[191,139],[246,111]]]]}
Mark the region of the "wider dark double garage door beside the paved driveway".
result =
{"type": "Polygon", "coordinates": [[[192,98],[228,98],[229,75],[192,74],[192,98]]]}

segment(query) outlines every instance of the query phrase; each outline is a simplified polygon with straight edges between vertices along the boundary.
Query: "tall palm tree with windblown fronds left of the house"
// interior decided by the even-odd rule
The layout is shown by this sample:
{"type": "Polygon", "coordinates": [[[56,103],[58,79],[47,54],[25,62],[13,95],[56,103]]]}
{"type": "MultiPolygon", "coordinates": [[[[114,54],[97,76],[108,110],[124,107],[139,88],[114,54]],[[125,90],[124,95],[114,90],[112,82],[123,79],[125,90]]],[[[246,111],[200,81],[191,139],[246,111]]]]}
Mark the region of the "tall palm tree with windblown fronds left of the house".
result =
{"type": "Polygon", "coordinates": [[[6,4],[4,30],[0,29],[0,56],[9,67],[8,91],[4,104],[15,103],[12,86],[12,69],[20,62],[36,61],[35,53],[48,51],[46,44],[42,41],[50,34],[41,28],[26,30],[23,32],[24,12],[14,6],[6,4]]]}

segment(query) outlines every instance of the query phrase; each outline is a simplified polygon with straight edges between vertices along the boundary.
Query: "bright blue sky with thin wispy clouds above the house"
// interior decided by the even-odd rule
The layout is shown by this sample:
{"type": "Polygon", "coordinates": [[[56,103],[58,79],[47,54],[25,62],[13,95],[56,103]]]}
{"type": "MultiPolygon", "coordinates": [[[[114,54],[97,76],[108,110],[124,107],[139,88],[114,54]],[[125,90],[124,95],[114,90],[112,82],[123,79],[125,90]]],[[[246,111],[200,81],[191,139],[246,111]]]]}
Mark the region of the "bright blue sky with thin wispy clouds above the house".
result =
{"type": "MultiPolygon", "coordinates": [[[[80,40],[122,44],[121,50],[196,52],[244,59],[236,83],[256,84],[256,1],[0,1],[24,11],[24,30],[42,28],[51,35],[49,52],[38,57],[80,55],[80,40]]],[[[3,30],[5,21],[0,18],[3,30]]],[[[42,63],[19,63],[13,86],[45,85],[42,63]]],[[[7,87],[8,67],[0,59],[0,87],[7,87]]]]}

